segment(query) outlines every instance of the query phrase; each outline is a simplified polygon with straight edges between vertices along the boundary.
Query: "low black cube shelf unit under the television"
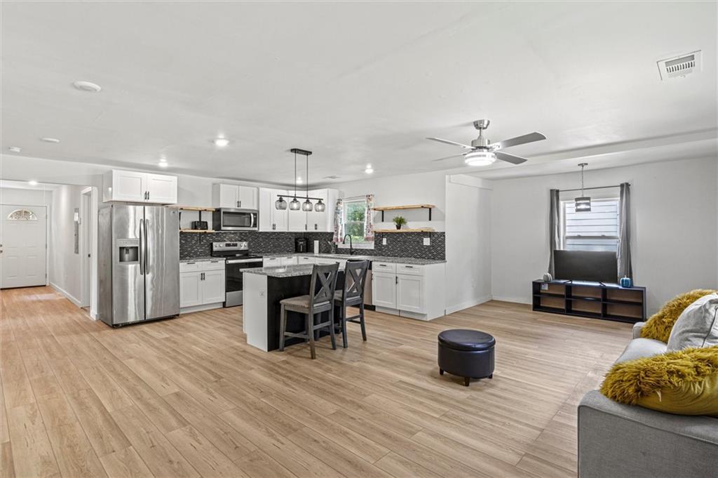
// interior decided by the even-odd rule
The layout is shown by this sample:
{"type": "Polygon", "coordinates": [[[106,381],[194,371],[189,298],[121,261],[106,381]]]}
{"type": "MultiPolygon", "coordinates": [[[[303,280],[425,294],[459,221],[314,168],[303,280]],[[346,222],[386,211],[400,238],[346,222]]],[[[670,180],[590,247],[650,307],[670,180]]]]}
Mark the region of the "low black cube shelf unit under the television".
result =
{"type": "Polygon", "coordinates": [[[609,321],[645,320],[645,288],[600,282],[534,280],[533,310],[609,321]]]}

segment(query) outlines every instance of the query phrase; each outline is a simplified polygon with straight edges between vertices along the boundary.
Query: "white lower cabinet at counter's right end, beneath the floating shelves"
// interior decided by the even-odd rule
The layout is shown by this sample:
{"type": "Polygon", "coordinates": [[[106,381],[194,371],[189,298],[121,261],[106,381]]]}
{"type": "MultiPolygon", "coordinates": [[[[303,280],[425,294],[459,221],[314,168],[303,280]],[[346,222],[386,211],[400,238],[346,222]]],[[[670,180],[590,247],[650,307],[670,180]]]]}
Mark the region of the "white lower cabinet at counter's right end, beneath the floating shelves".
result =
{"type": "Polygon", "coordinates": [[[445,265],[373,262],[372,303],[379,312],[430,321],[445,306],[445,265]]]}

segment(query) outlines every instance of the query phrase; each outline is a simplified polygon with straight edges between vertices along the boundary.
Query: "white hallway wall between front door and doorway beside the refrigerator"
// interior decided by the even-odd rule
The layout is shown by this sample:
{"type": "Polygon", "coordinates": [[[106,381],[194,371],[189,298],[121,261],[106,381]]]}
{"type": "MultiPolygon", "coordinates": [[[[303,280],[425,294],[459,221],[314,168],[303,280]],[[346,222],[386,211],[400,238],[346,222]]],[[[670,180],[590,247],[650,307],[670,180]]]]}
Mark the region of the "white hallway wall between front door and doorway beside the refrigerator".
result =
{"type": "Polygon", "coordinates": [[[62,185],[52,197],[50,236],[50,285],[76,305],[80,305],[80,254],[75,254],[75,208],[80,208],[84,186],[62,185]]]}

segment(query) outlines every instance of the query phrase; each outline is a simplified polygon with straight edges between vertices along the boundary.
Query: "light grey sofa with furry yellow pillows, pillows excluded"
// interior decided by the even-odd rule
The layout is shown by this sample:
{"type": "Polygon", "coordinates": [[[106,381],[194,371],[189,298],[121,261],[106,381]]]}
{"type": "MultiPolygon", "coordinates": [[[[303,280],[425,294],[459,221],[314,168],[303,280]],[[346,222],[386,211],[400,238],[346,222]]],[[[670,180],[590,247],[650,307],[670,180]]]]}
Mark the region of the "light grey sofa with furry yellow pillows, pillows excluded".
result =
{"type": "MultiPolygon", "coordinates": [[[[639,339],[642,326],[617,362],[666,350],[639,339]]],[[[718,418],[623,405],[591,390],[579,403],[578,441],[579,478],[718,477],[718,418]]]]}

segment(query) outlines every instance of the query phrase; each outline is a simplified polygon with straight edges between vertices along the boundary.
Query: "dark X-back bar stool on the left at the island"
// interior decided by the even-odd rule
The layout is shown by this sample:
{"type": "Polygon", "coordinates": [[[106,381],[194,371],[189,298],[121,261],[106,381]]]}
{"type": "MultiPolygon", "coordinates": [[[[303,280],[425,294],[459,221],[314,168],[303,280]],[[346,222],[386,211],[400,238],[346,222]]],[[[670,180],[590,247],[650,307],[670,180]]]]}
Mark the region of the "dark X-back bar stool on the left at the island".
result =
{"type": "Polygon", "coordinates": [[[334,335],[334,293],[337,288],[337,275],[339,264],[314,265],[312,270],[312,285],[309,286],[309,295],[299,295],[280,300],[281,321],[279,325],[279,350],[284,350],[285,337],[297,337],[309,341],[309,349],[312,351],[312,359],[317,358],[314,351],[314,332],[321,328],[329,328],[332,337],[332,349],[337,349],[337,342],[334,335]],[[293,334],[286,331],[286,311],[303,313],[306,316],[304,332],[293,334]],[[316,322],[317,314],[329,312],[329,320],[316,322]]]}

